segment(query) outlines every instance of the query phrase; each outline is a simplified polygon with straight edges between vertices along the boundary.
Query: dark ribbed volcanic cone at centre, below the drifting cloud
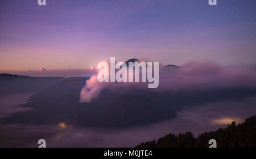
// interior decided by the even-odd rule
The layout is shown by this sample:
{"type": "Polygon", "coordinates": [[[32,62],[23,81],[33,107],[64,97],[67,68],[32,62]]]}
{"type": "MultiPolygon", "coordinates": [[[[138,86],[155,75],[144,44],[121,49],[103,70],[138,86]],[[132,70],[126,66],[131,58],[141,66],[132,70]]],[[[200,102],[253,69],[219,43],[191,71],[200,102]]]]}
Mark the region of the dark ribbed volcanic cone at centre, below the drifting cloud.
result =
{"type": "Polygon", "coordinates": [[[122,95],[105,108],[103,116],[109,125],[154,123],[163,111],[158,104],[142,95],[122,95]]]}

